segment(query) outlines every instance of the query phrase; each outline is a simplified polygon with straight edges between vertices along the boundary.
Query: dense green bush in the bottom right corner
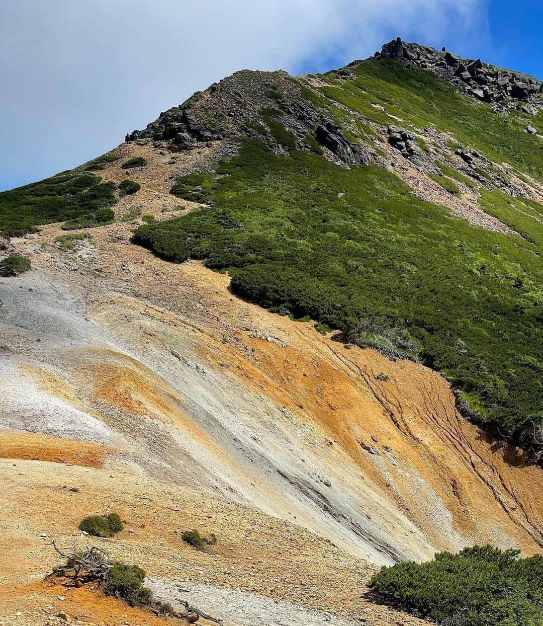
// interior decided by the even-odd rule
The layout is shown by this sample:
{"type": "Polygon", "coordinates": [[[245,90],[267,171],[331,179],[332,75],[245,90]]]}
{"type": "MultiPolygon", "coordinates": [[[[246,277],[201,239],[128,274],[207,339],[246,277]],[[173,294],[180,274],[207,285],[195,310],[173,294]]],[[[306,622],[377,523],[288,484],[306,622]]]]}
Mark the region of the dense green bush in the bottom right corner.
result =
{"type": "Polygon", "coordinates": [[[384,567],[370,588],[388,603],[447,626],[541,626],[543,557],[474,546],[429,563],[384,567]]]}

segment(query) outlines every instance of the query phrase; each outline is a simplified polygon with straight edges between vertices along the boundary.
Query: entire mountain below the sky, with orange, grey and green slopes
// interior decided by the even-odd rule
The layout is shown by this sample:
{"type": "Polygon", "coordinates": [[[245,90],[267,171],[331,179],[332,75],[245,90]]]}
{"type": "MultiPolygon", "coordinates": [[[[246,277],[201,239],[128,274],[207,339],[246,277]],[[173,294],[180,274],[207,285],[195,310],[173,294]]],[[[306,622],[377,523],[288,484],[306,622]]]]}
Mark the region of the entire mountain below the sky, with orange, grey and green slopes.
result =
{"type": "Polygon", "coordinates": [[[539,626],[541,98],[395,39],[0,193],[0,624],[539,626]]]}

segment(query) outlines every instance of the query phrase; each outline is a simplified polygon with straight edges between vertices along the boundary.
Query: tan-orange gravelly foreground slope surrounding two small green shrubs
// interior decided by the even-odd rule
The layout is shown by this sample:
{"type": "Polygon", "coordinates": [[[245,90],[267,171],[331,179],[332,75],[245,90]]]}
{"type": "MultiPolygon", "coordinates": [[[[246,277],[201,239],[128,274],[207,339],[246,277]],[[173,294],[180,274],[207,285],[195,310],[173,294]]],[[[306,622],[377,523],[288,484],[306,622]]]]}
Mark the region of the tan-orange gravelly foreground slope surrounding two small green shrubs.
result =
{"type": "MultiPolygon", "coordinates": [[[[335,607],[343,614],[368,606],[361,599],[373,571],[367,563],[302,528],[220,496],[123,473],[122,466],[105,471],[22,461],[13,468],[0,461],[0,475],[0,531],[11,538],[0,563],[0,619],[2,613],[32,605],[29,591],[20,586],[41,580],[60,562],[48,545],[51,538],[69,548],[78,538],[81,518],[108,509],[121,515],[125,529],[113,539],[92,542],[114,559],[138,563],[150,575],[212,582],[306,607],[335,607]],[[79,491],[69,491],[63,482],[79,491]],[[215,532],[218,545],[206,552],[190,548],[181,540],[188,528],[204,535],[215,532]],[[301,586],[300,580],[311,584],[301,586]]],[[[89,543],[84,537],[78,541],[89,543]]],[[[66,598],[80,592],[69,596],[63,587],[51,591],[66,598]]],[[[56,610],[72,613],[66,601],[55,604],[56,610]]]]}

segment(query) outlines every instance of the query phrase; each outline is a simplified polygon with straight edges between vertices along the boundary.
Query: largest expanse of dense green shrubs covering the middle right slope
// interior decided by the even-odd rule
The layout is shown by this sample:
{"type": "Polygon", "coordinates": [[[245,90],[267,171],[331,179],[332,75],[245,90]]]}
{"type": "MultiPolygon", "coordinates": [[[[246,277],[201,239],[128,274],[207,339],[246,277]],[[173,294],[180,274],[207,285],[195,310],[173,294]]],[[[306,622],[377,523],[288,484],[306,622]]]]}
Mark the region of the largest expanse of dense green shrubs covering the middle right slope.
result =
{"type": "Polygon", "coordinates": [[[176,195],[211,206],[143,225],[136,242],[227,269],[236,294],[275,312],[419,357],[462,389],[480,419],[535,446],[539,244],[470,227],[382,168],[278,156],[254,140],[217,174],[178,179],[176,195]]]}

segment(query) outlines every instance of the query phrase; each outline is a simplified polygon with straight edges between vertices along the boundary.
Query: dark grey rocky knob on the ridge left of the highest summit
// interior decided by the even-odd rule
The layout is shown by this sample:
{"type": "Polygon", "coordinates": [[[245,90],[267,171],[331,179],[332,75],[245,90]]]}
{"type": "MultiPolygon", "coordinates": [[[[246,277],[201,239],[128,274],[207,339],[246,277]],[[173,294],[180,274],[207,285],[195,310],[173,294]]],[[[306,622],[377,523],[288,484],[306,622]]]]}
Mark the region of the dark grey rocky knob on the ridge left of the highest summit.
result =
{"type": "Polygon", "coordinates": [[[375,156],[367,146],[349,141],[340,126],[304,100],[300,83],[283,71],[236,72],[161,113],[145,130],[128,133],[126,141],[165,141],[170,150],[182,151],[247,136],[284,153],[292,145],[273,132],[272,126],[278,125],[290,133],[297,150],[310,150],[310,136],[345,165],[370,163],[375,156]]]}

